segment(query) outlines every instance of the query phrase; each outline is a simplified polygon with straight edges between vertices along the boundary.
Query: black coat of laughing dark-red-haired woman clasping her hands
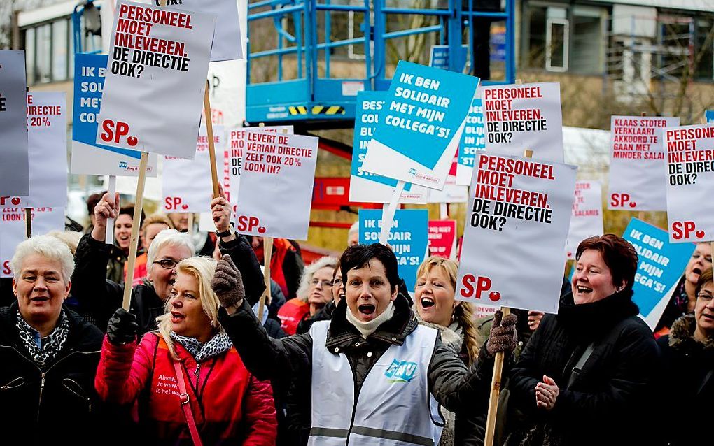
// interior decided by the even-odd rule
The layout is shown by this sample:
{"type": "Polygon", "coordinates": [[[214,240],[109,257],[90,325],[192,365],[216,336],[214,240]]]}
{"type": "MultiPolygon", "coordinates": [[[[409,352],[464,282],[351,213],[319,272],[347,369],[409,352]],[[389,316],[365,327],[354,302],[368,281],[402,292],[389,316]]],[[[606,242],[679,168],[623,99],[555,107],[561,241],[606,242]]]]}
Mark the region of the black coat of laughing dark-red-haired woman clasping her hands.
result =
{"type": "Polygon", "coordinates": [[[511,400],[526,415],[509,420],[507,445],[647,445],[643,427],[659,369],[652,331],[625,290],[575,305],[568,293],[558,315],[545,315],[521,352],[509,382],[511,400]],[[568,387],[585,349],[594,350],[568,387]],[[535,405],[535,385],[553,378],[553,410],[535,405]],[[641,417],[641,418],[640,418],[641,417]]]}

